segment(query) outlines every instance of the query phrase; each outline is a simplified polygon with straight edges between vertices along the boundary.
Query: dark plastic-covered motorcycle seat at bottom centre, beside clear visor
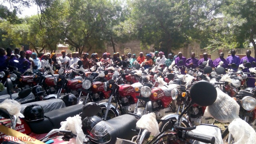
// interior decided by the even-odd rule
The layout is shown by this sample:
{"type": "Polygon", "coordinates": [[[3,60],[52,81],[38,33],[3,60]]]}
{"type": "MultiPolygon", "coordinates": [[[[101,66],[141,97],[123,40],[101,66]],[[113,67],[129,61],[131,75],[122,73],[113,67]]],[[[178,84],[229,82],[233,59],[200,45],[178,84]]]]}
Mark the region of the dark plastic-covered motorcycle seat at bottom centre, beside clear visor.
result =
{"type": "Polygon", "coordinates": [[[108,144],[115,143],[117,138],[126,140],[132,139],[132,137],[137,135],[137,132],[132,131],[132,129],[136,128],[137,121],[138,120],[130,114],[124,114],[108,120],[107,122],[113,127],[113,131],[109,132],[111,140],[108,144]]]}

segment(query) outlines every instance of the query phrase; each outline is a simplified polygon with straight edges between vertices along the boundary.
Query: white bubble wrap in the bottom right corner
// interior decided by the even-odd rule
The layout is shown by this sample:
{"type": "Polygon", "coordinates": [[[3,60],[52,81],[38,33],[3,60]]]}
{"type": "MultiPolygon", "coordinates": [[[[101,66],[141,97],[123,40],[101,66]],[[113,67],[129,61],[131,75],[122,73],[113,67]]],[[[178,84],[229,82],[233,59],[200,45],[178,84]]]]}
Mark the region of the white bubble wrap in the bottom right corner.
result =
{"type": "Polygon", "coordinates": [[[256,132],[255,130],[241,118],[233,120],[228,130],[234,137],[234,144],[256,144],[256,132]]]}

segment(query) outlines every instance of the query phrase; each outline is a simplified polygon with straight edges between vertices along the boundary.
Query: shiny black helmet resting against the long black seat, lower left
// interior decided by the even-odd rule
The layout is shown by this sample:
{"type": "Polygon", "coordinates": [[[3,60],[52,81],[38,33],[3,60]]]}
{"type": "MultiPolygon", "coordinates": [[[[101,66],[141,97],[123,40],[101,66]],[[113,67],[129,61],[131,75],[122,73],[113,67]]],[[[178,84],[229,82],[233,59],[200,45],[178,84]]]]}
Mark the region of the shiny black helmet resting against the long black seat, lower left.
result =
{"type": "Polygon", "coordinates": [[[25,107],[23,115],[26,121],[43,120],[44,109],[41,105],[30,104],[25,107]]]}

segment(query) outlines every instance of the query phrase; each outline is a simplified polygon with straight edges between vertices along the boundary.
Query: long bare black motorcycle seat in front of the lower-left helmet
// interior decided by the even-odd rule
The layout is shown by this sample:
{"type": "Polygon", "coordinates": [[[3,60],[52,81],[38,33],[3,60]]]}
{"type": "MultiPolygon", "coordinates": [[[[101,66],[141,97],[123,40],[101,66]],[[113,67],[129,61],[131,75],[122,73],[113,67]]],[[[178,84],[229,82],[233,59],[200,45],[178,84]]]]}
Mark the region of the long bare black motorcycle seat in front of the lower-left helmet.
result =
{"type": "Polygon", "coordinates": [[[82,113],[82,108],[83,105],[81,104],[56,109],[45,113],[43,120],[28,122],[28,125],[33,133],[48,133],[52,129],[59,129],[61,127],[60,123],[65,121],[68,117],[82,113]]]}

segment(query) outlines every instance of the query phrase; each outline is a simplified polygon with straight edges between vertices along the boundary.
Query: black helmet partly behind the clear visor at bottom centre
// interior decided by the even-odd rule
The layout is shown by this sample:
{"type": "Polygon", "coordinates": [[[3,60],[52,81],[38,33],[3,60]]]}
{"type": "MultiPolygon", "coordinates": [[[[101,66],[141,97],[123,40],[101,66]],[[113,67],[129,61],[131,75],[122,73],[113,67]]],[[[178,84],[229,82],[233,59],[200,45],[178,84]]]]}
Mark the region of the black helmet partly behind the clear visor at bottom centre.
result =
{"type": "Polygon", "coordinates": [[[98,116],[86,117],[82,121],[82,130],[85,135],[89,135],[93,127],[98,124],[102,119],[98,116]]]}

